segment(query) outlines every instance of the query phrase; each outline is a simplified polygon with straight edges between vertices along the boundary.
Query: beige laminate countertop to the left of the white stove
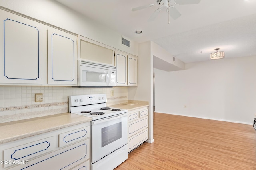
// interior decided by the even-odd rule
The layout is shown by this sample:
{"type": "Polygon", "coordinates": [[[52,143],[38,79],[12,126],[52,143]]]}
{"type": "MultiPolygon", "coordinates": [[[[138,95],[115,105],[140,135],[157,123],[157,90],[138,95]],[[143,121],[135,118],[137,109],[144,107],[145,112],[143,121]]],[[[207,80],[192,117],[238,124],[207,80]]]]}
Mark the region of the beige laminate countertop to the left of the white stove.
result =
{"type": "Polygon", "coordinates": [[[71,113],[0,123],[0,144],[91,121],[71,113]]]}

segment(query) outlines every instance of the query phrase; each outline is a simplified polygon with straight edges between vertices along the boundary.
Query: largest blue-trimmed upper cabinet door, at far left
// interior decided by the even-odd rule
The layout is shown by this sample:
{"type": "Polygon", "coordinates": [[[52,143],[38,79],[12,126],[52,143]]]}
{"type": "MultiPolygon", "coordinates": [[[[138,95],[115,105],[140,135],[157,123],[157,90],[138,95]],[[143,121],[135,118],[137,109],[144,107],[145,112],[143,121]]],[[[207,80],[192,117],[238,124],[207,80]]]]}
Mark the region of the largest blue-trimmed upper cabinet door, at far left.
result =
{"type": "Polygon", "coordinates": [[[46,83],[47,27],[0,10],[0,82],[46,83]]]}

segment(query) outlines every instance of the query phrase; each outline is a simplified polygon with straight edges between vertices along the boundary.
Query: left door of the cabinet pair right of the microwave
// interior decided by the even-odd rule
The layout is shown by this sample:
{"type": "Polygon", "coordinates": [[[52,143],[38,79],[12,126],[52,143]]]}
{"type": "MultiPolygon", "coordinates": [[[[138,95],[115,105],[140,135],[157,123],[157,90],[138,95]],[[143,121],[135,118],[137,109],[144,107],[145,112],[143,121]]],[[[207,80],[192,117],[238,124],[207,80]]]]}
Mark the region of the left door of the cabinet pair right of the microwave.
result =
{"type": "Polygon", "coordinates": [[[116,52],[116,86],[127,86],[127,55],[116,52]]]}

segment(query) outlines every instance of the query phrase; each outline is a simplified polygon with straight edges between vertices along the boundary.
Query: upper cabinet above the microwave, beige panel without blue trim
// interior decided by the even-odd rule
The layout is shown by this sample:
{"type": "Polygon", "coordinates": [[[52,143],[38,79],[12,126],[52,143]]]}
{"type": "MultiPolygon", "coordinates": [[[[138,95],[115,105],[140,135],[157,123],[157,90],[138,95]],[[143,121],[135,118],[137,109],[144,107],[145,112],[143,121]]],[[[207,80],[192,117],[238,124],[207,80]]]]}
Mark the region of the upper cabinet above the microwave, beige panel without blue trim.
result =
{"type": "Polygon", "coordinates": [[[114,48],[78,35],[78,60],[115,66],[114,48]]]}

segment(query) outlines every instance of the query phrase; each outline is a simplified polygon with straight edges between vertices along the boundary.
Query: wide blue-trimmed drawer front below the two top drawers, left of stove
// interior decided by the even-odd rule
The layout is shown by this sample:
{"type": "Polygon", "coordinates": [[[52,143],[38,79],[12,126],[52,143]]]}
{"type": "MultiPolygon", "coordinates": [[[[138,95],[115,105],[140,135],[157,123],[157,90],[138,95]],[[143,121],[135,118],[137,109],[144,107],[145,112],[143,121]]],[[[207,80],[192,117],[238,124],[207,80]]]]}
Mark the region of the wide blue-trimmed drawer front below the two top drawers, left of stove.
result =
{"type": "Polygon", "coordinates": [[[90,139],[63,147],[11,170],[68,170],[90,158],[90,139]]]}

